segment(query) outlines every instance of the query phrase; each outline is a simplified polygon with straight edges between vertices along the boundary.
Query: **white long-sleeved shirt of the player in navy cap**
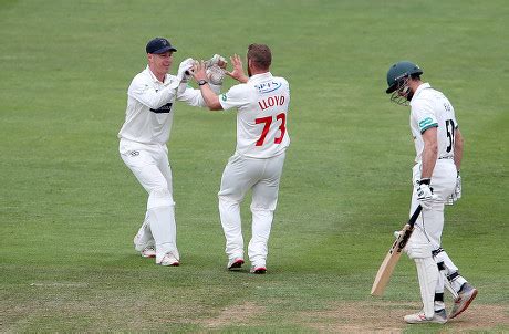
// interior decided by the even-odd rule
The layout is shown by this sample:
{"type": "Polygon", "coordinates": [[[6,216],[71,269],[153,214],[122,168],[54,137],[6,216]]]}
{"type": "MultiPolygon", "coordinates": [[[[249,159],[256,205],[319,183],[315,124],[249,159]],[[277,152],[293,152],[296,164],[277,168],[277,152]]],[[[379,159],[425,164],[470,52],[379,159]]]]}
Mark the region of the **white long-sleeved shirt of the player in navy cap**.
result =
{"type": "Polygon", "coordinates": [[[125,123],[118,138],[144,144],[165,144],[169,139],[175,100],[193,106],[205,106],[199,90],[186,87],[177,94],[176,81],[177,77],[170,74],[166,74],[164,83],[158,81],[148,66],[137,74],[127,90],[125,123]]]}

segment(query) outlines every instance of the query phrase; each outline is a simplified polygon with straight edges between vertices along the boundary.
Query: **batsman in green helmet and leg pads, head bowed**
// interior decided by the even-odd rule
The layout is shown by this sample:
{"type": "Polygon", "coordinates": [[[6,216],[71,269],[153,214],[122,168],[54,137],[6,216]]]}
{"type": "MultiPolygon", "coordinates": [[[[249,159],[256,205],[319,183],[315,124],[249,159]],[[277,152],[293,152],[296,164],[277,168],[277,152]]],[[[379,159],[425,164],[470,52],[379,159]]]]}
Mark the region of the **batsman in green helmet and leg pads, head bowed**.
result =
{"type": "MultiPolygon", "coordinates": [[[[423,71],[402,61],[387,72],[391,101],[411,106],[411,129],[416,158],[413,168],[411,212],[420,203],[423,211],[415,223],[405,251],[417,267],[423,311],[406,315],[411,324],[446,323],[445,283],[457,293],[449,319],[464,312],[476,298],[477,290],[463,278],[442,248],[444,205],[461,197],[459,168],[464,139],[455,109],[447,97],[423,83],[423,71]],[[448,282],[445,282],[444,279],[448,282]]],[[[411,213],[412,215],[412,213],[411,213]]]]}

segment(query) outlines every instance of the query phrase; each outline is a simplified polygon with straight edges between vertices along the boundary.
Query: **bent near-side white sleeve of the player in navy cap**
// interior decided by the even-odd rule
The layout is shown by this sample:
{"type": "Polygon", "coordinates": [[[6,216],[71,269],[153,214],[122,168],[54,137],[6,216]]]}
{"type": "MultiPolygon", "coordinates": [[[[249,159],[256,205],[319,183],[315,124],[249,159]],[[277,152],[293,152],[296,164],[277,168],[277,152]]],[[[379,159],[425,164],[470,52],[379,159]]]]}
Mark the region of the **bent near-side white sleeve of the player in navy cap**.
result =
{"type": "Polygon", "coordinates": [[[175,88],[168,86],[160,91],[156,91],[155,87],[148,85],[143,80],[135,77],[129,85],[127,95],[139,101],[149,108],[158,109],[175,98],[175,88]]]}

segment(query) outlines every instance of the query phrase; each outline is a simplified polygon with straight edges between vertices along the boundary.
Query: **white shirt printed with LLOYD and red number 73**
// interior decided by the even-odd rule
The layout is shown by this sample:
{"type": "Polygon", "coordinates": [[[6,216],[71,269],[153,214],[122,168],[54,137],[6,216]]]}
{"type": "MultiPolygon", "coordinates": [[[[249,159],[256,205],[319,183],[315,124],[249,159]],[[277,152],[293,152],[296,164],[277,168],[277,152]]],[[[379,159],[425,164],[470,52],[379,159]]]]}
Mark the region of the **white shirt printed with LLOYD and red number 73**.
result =
{"type": "Polygon", "coordinates": [[[290,86],[270,72],[252,75],[247,83],[232,86],[219,95],[222,108],[237,108],[236,153],[269,158],[282,154],[290,145],[287,115],[290,86]]]}

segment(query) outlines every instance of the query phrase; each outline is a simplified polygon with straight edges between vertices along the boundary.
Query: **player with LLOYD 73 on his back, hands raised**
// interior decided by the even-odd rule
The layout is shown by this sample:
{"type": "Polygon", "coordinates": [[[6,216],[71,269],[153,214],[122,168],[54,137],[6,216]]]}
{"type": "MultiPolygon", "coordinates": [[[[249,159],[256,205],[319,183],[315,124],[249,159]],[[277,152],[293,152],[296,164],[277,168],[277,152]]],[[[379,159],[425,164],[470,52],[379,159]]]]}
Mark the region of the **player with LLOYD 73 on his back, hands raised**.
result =
{"type": "Polygon", "coordinates": [[[237,148],[222,173],[219,213],[226,237],[228,270],[245,263],[240,203],[252,190],[252,237],[248,246],[251,273],[267,271],[268,241],[278,201],[279,182],[290,137],[287,115],[290,88],[287,80],[269,72],[269,46],[248,48],[248,76],[238,55],[231,58],[233,71],[227,72],[240,84],[217,96],[205,80],[205,67],[197,64],[194,76],[211,111],[237,108],[237,148]]]}

